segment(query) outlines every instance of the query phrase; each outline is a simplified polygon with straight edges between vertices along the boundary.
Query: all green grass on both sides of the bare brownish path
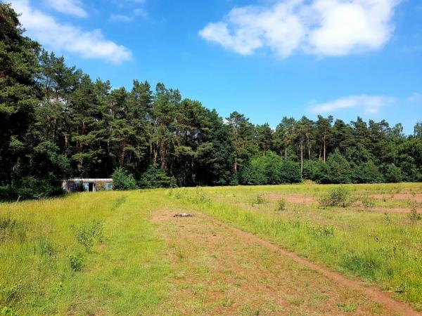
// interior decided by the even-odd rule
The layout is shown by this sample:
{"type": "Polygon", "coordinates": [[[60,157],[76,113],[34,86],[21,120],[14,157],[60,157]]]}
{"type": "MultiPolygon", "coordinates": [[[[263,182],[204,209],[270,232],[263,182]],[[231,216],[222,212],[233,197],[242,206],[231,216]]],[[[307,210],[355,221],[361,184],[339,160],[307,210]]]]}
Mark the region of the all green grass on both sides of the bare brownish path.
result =
{"type": "MultiPolygon", "coordinates": [[[[0,310],[7,306],[18,315],[177,314],[167,303],[174,288],[169,282],[177,282],[177,271],[166,256],[170,245],[150,220],[160,209],[203,211],[311,261],[393,291],[422,310],[422,220],[410,220],[406,213],[321,209],[317,202],[286,200],[279,207],[280,199],[268,199],[270,194],[293,193],[317,199],[333,187],[96,192],[1,203],[0,310]]],[[[421,183],[345,187],[356,196],[422,192],[421,183]]],[[[376,203],[395,207],[397,201],[376,203]]],[[[175,255],[186,260],[183,249],[175,255]]],[[[209,257],[214,256],[220,254],[209,257]]],[[[354,308],[338,305],[343,312],[354,308]]]]}

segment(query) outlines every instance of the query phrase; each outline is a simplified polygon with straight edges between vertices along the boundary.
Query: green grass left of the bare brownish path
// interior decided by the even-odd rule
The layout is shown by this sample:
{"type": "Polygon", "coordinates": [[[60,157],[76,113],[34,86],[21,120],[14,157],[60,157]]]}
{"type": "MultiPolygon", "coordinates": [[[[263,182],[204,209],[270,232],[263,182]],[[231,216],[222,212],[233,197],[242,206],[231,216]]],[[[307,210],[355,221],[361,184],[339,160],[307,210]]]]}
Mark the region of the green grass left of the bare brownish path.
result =
{"type": "Polygon", "coordinates": [[[0,306],[10,306],[18,315],[155,310],[165,297],[170,272],[162,242],[148,221],[157,197],[98,192],[0,204],[0,223],[13,223],[0,228],[0,306]],[[103,240],[94,238],[87,251],[72,225],[89,226],[92,220],[102,224],[103,240]],[[80,271],[72,270],[70,256],[80,258],[80,271]]]}

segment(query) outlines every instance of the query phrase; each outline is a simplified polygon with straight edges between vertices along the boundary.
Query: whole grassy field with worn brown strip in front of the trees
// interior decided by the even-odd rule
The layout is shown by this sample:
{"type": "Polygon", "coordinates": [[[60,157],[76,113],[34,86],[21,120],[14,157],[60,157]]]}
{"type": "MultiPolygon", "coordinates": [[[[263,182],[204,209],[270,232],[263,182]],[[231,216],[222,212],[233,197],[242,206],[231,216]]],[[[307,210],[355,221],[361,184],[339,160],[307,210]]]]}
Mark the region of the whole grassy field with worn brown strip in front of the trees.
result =
{"type": "Polygon", "coordinates": [[[422,184],[345,185],[346,207],[321,207],[335,187],[0,204],[0,306],[17,315],[397,314],[262,240],[421,311],[422,184]],[[194,216],[173,217],[183,211],[194,216]]]}

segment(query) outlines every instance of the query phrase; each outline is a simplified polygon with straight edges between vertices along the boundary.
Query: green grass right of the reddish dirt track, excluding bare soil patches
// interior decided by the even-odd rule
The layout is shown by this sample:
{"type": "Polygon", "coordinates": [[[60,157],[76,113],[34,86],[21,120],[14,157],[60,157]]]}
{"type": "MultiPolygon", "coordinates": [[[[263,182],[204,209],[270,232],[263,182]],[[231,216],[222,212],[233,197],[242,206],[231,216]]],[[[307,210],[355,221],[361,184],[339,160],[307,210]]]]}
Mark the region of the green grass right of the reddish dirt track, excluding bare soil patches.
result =
{"type": "MultiPolygon", "coordinates": [[[[169,195],[210,216],[295,251],[316,263],[369,284],[393,291],[422,310],[422,220],[408,214],[359,212],[343,207],[290,204],[274,211],[276,202],[250,206],[257,194],[305,192],[324,194],[333,185],[216,187],[170,190],[169,195]]],[[[421,184],[347,185],[352,193],[421,192],[421,184]]]]}

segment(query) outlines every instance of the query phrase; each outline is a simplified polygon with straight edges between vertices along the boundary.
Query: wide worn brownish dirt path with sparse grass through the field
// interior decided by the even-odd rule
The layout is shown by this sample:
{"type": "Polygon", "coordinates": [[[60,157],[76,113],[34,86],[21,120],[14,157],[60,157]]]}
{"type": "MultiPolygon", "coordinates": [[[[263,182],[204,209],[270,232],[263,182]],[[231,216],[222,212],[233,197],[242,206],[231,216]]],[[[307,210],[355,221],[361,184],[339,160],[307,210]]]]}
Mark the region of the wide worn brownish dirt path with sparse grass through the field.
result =
{"type": "Polygon", "coordinates": [[[203,213],[190,218],[173,214],[152,214],[174,269],[166,313],[418,315],[378,289],[203,213]]]}

